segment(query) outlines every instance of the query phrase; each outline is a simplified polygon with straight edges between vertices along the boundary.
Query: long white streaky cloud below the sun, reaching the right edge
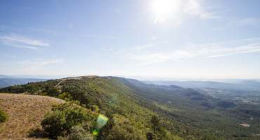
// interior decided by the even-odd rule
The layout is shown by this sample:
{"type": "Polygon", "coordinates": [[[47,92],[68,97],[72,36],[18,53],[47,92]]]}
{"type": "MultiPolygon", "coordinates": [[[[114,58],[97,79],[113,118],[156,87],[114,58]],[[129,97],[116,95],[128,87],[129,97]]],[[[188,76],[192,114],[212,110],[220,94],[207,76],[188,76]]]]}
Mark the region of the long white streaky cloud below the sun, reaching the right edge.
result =
{"type": "Polygon", "coordinates": [[[225,57],[228,55],[260,52],[260,38],[247,38],[240,41],[226,41],[221,43],[193,44],[179,48],[182,49],[167,52],[135,51],[129,52],[127,55],[139,62],[141,66],[166,61],[185,62],[193,58],[225,57]]]}

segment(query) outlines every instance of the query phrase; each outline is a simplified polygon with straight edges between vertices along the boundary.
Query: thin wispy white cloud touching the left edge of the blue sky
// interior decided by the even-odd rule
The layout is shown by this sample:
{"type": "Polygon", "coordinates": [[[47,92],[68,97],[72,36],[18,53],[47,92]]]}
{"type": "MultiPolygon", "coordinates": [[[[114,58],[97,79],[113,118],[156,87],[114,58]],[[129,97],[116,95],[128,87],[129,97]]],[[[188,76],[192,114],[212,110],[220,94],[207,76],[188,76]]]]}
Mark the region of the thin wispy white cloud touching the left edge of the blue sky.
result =
{"type": "Polygon", "coordinates": [[[25,36],[8,35],[0,36],[0,42],[4,45],[8,45],[16,48],[38,49],[41,47],[48,47],[49,44],[46,41],[37,40],[34,38],[28,38],[25,36]]]}

